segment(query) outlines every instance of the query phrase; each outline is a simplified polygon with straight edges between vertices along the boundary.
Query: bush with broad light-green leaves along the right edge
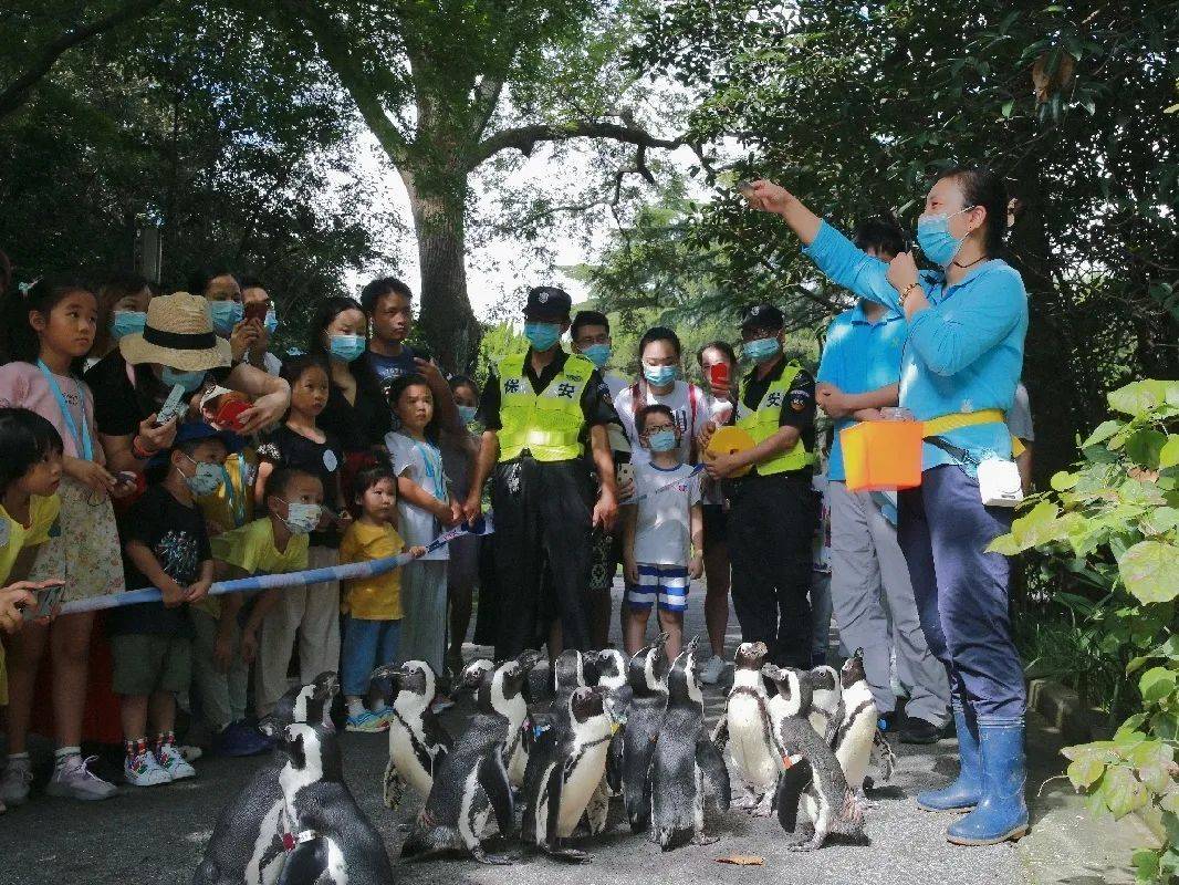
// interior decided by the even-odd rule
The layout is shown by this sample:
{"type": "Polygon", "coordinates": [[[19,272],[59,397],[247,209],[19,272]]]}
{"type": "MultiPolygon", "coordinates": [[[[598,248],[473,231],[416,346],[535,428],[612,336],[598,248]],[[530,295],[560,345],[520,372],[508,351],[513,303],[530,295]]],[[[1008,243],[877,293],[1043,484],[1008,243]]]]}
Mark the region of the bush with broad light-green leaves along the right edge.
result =
{"type": "Polygon", "coordinates": [[[992,550],[1047,555],[1085,641],[1122,662],[1137,688],[1138,712],[1113,740],[1063,754],[1095,811],[1158,808],[1165,844],[1133,863],[1140,881],[1168,881],[1179,873],[1179,465],[1164,453],[1179,440],[1179,381],[1138,381],[1107,399],[1120,417],[1081,442],[1084,460],[1055,474],[992,550]]]}

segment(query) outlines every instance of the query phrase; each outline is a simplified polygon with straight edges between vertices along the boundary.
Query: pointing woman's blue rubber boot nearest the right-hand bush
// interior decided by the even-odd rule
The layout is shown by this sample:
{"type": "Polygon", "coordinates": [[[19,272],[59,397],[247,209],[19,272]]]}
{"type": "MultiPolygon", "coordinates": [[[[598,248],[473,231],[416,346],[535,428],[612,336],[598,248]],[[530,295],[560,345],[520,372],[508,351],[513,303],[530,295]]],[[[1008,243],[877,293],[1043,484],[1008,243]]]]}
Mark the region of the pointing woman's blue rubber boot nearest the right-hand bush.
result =
{"type": "Polygon", "coordinates": [[[1023,799],[1023,721],[979,723],[982,749],[982,799],[979,807],[946,832],[955,845],[997,845],[1028,832],[1028,806],[1023,799]]]}

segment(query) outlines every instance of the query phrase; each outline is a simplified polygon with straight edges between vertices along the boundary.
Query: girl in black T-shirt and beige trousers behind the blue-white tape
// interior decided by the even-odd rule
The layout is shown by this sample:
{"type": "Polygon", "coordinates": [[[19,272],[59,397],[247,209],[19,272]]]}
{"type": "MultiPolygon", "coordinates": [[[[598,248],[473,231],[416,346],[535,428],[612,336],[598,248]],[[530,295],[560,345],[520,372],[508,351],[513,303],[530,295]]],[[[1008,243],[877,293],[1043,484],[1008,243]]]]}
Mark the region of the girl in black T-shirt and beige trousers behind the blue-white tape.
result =
{"type": "MultiPolygon", "coordinates": [[[[340,537],[351,523],[341,490],[343,452],[336,437],[318,425],[328,402],[328,371],[314,355],[283,365],[291,387],[285,424],[258,446],[255,500],[266,500],[266,483],[279,467],[295,467],[320,480],[320,500],[279,500],[279,518],[295,535],[310,535],[308,568],[325,569],[340,562],[340,537]]],[[[286,666],[296,640],[299,671],[311,682],[324,670],[340,668],[340,582],[290,588],[278,595],[258,630],[255,695],[258,715],[274,708],[286,690],[286,666]]]]}

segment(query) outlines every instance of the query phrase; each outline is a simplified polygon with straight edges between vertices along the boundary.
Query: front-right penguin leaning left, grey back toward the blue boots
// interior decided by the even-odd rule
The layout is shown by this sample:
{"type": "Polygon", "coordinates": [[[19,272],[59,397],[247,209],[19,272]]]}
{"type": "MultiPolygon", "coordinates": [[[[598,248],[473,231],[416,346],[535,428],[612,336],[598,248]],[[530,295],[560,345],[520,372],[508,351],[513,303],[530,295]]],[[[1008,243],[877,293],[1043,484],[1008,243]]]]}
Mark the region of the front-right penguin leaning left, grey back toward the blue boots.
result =
{"type": "Polygon", "coordinates": [[[808,673],[783,670],[773,664],[762,669],[778,688],[770,700],[775,738],[782,753],[773,806],[788,835],[791,851],[823,847],[830,833],[863,834],[863,811],[848,787],[835,753],[810,723],[812,689],[808,673]],[[798,812],[810,831],[798,827],[798,812]]]}

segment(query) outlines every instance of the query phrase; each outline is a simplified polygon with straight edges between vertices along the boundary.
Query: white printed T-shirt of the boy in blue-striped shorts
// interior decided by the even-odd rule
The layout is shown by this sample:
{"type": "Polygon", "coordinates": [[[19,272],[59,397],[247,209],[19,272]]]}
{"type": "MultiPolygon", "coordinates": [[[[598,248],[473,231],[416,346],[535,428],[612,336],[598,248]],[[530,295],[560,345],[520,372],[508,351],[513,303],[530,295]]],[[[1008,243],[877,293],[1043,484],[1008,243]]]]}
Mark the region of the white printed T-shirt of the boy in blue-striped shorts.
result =
{"type": "Polygon", "coordinates": [[[680,464],[672,470],[657,467],[650,461],[634,467],[635,497],[648,494],[637,506],[634,525],[634,562],[647,565],[687,565],[692,544],[691,509],[700,503],[700,478],[689,477],[692,467],[680,464]],[[659,489],[685,480],[684,487],[659,489]]]}

